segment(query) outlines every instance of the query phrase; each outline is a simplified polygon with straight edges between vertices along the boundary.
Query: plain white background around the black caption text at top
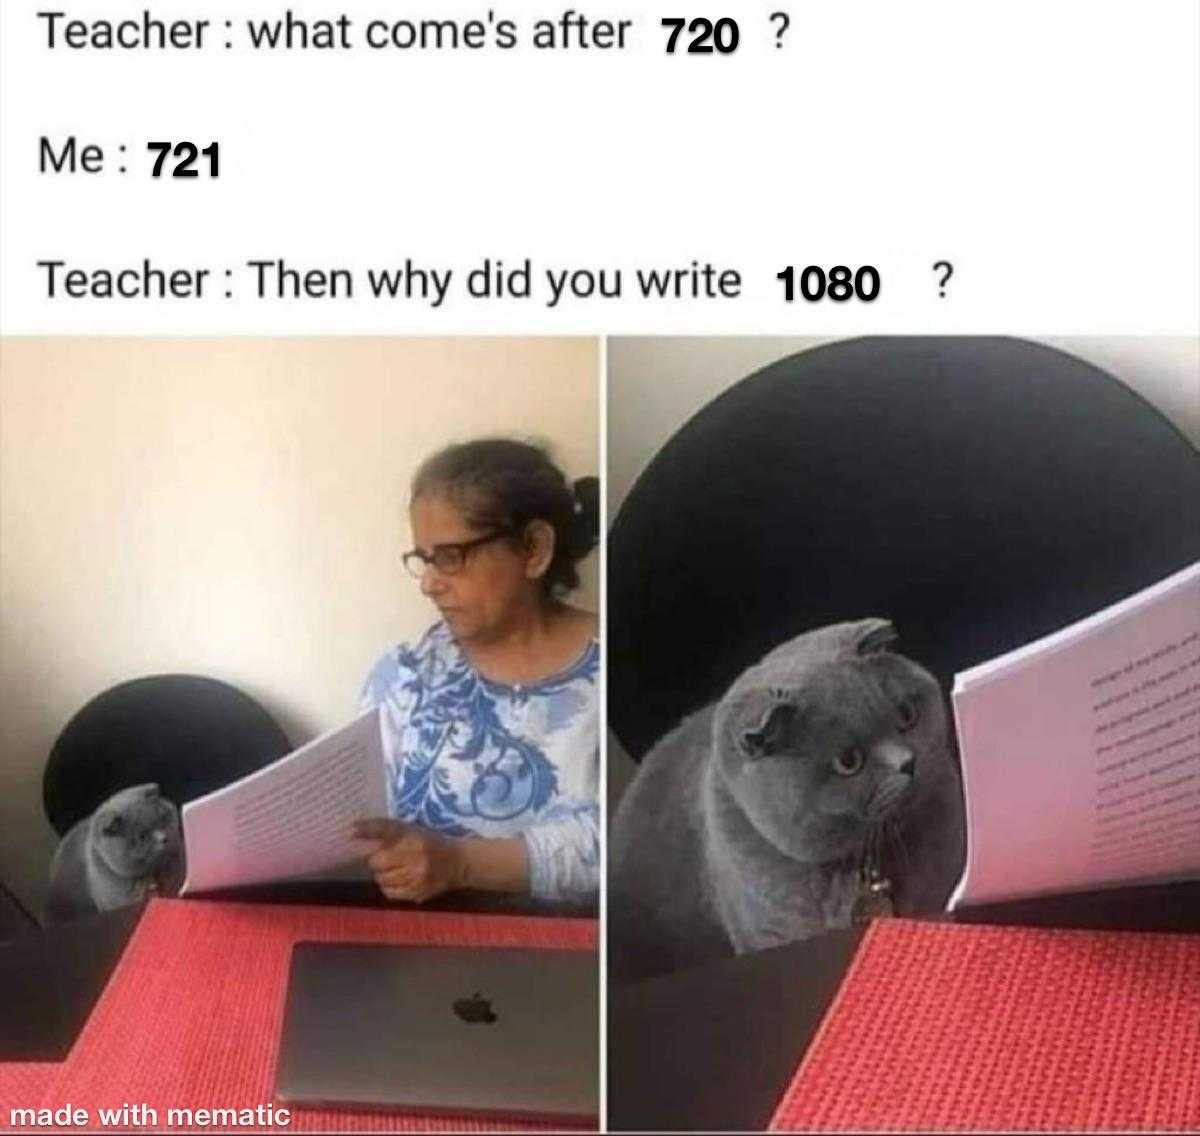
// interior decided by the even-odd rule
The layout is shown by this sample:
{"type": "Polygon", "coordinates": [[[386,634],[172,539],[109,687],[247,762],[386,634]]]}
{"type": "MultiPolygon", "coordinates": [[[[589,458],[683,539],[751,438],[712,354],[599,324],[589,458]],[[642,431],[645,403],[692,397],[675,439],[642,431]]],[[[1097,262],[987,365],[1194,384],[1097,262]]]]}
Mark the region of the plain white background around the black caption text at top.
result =
{"type": "MultiPolygon", "coordinates": [[[[1194,0],[626,2],[625,52],[49,52],[4,0],[8,333],[1019,331],[1200,325],[1194,0]],[[791,25],[775,47],[769,13],[791,25]],[[664,54],[662,14],[733,16],[733,56],[664,54]],[[42,134],[130,148],[131,173],[37,173],[42,134]],[[150,180],[148,139],[218,139],[217,181],[150,180]],[[469,269],[737,266],[739,301],[47,301],[41,258],[85,268],[301,266],[406,257],[469,269]],[[955,266],[946,299],[932,264],[955,266]],[[875,264],[872,305],[781,302],[787,264],[875,264]]],[[[121,16],[138,2],[67,5],[121,16]]],[[[430,0],[300,13],[475,16],[430,0]]],[[[497,4],[528,28],[563,8],[497,4]]]]}

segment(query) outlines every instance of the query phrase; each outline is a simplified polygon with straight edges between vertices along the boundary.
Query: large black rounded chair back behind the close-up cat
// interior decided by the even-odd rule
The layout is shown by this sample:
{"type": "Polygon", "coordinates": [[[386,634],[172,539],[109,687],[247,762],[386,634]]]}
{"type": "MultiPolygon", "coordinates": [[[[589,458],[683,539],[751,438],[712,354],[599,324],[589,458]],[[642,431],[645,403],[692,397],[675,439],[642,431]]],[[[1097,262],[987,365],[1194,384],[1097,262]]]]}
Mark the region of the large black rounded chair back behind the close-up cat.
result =
{"type": "Polygon", "coordinates": [[[635,759],[770,647],[865,615],[955,672],[1200,559],[1200,453],[1020,339],[852,339],[738,383],[610,534],[610,719],[635,759]]]}

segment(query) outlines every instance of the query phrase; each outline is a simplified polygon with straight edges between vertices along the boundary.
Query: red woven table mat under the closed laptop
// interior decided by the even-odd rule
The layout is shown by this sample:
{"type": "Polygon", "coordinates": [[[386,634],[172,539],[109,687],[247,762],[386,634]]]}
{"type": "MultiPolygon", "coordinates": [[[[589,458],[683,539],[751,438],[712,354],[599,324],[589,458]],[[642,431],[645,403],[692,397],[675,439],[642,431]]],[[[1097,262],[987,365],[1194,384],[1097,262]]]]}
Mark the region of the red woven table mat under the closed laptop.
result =
{"type": "MultiPolygon", "coordinates": [[[[595,949],[587,919],[457,915],[366,908],[154,900],[67,1060],[42,1098],[89,1110],[257,1108],[274,1102],[292,944],[302,939],[595,949]]],[[[282,1106],[276,1102],[276,1107],[282,1106]]],[[[478,1117],[293,1110],[290,1123],[193,1131],[485,1131],[552,1125],[478,1117]]],[[[559,1125],[560,1126],[560,1125],[559,1125]]],[[[73,1129],[80,1131],[80,1129],[73,1129]]]]}

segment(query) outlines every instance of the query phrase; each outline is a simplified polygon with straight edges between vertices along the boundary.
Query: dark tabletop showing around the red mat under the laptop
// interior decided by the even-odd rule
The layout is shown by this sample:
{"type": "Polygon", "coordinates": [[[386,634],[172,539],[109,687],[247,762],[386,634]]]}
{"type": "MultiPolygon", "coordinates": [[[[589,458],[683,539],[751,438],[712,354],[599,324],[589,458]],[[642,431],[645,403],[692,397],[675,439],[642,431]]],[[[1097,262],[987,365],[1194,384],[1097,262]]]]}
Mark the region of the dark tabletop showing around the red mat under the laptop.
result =
{"type": "MultiPolygon", "coordinates": [[[[404,908],[385,901],[368,880],[269,884],[197,897],[252,903],[313,903],[404,908]]],[[[546,916],[594,916],[594,908],[539,904],[512,896],[456,892],[421,910],[546,916]]],[[[0,1062],[66,1058],[116,967],[142,915],[142,907],[94,915],[30,931],[0,944],[0,1062]]]]}

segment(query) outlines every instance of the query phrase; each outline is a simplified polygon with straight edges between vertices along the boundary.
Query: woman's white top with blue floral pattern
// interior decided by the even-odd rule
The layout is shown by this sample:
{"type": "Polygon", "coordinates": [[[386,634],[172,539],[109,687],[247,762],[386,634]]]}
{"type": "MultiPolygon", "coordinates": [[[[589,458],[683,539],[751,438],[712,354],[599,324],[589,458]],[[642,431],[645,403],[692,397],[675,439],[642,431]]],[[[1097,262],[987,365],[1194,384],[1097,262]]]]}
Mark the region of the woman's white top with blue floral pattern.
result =
{"type": "Polygon", "coordinates": [[[522,836],[529,890],[600,888],[600,649],[559,674],[505,686],[478,674],[444,623],[371,669],[391,815],[448,836],[522,836]]]}

